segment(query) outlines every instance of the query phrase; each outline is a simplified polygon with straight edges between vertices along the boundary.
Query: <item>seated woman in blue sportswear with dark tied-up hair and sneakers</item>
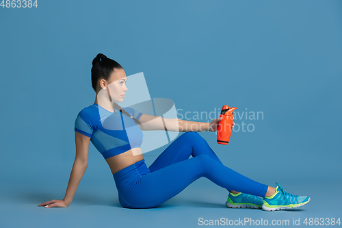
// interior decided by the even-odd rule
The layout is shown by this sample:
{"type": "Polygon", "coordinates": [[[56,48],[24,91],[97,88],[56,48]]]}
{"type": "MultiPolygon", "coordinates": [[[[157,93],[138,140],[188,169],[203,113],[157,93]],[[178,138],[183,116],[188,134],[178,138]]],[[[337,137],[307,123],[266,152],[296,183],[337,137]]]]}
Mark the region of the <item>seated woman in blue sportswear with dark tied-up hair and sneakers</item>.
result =
{"type": "Polygon", "coordinates": [[[309,197],[285,192],[278,183],[276,188],[267,186],[224,166],[207,141],[196,131],[190,131],[191,125],[196,125],[200,131],[217,131],[220,118],[211,123],[198,123],[150,116],[131,107],[120,107],[117,102],[123,101],[128,90],[126,81],[124,69],[118,62],[101,53],[94,58],[92,88],[96,99],[94,104],[83,108],[75,120],[76,157],[65,197],[38,206],[70,205],[88,166],[90,140],[111,169],[122,207],[155,207],[179,194],[200,177],[207,177],[228,190],[227,207],[272,211],[300,207],[310,201],[309,197]],[[105,117],[100,117],[99,113],[105,113],[105,117]],[[159,121],[160,118],[162,121],[159,121]],[[164,127],[163,123],[169,127],[164,127]],[[140,148],[142,130],[187,132],[176,138],[147,167],[140,148]]]}

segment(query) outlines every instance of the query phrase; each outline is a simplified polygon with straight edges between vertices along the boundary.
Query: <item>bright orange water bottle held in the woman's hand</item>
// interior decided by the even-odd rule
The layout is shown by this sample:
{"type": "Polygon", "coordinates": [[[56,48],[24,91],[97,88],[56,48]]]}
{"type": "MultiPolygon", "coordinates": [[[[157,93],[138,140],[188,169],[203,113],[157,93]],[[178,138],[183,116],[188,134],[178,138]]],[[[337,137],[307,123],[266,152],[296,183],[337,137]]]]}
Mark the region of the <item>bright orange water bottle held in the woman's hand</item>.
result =
{"type": "Polygon", "coordinates": [[[229,107],[228,105],[223,105],[220,118],[221,121],[218,122],[218,138],[216,142],[218,144],[228,144],[231,138],[232,125],[233,125],[233,111],[237,107],[229,107]]]}

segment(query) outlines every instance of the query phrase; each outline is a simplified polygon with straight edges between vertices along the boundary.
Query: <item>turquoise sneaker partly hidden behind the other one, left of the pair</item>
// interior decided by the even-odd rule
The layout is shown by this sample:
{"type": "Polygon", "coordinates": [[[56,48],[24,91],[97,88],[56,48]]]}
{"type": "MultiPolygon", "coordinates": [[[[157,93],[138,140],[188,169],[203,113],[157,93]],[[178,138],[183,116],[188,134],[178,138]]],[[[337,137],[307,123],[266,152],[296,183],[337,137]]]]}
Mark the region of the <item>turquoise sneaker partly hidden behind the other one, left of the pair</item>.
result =
{"type": "Polygon", "coordinates": [[[263,198],[239,192],[234,194],[229,192],[226,206],[231,208],[261,208],[263,198]]]}

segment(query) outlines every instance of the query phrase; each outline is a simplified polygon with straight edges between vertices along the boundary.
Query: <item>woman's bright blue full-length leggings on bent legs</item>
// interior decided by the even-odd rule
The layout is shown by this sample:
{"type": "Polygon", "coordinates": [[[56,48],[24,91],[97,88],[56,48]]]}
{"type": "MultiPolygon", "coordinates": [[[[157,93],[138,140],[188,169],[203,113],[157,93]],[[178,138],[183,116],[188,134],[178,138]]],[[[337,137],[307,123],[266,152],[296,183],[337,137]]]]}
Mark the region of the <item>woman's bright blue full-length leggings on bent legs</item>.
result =
{"type": "Polygon", "coordinates": [[[143,159],[119,170],[113,177],[120,204],[129,208],[155,207],[200,177],[206,177],[228,191],[259,197],[265,197],[268,188],[224,166],[196,131],[187,131],[176,138],[150,167],[143,159]]]}

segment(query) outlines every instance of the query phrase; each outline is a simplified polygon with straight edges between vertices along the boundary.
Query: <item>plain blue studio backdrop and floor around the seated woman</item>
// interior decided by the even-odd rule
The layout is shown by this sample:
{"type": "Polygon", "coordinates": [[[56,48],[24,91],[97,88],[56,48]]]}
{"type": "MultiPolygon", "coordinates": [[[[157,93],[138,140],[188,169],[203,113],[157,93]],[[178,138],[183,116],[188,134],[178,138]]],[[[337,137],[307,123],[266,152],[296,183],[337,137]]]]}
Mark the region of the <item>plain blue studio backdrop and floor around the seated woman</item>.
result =
{"type": "MultiPolygon", "coordinates": [[[[341,10],[342,1],[330,0],[38,1],[38,8],[0,8],[0,227],[338,218],[341,10]],[[200,135],[226,166],[311,202],[294,212],[229,209],[226,190],[200,178],[159,207],[125,209],[90,144],[73,203],[38,207],[64,198],[75,118],[95,100],[90,68],[97,53],[127,75],[144,72],[150,97],[172,99],[183,114],[222,105],[263,112],[263,120],[235,119],[255,128],[234,132],[228,146],[217,144],[213,132],[200,135]]],[[[166,147],[144,154],[146,164],[166,147]]]]}

